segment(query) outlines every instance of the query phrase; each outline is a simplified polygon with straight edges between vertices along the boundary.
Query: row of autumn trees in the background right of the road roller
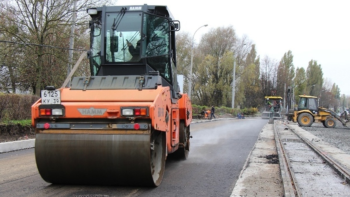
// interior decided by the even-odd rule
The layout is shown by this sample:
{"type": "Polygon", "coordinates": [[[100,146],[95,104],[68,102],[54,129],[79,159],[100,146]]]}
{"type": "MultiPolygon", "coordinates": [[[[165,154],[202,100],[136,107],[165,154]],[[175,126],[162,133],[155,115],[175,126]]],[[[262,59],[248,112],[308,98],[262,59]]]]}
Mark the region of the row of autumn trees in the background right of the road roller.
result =
{"type": "Polygon", "coordinates": [[[262,110],[265,96],[282,96],[292,89],[294,103],[298,95],[317,96],[320,106],[335,111],[348,108],[349,96],[340,95],[340,89],[323,78],[321,64],[316,60],[296,67],[292,51],[281,59],[265,56],[260,59],[255,44],[247,35],[239,38],[232,26],[211,28],[198,45],[194,46],[193,75],[190,76],[191,35],[177,35],[177,68],[184,75],[184,92],[192,77],[191,100],[198,105],[231,107],[232,84],[235,78],[235,108],[256,107],[262,110]],[[233,77],[233,62],[236,72],[233,77]],[[305,66],[306,66],[305,65],[305,66]]]}

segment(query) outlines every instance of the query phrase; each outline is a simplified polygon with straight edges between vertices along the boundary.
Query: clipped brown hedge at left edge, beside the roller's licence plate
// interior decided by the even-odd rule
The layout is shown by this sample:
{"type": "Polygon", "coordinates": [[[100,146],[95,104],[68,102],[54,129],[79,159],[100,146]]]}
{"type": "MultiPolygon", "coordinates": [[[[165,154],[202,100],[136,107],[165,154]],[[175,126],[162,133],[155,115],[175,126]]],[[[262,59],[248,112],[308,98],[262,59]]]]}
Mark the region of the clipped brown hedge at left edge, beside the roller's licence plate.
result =
{"type": "Polygon", "coordinates": [[[30,119],[30,107],[38,99],[35,95],[0,93],[0,122],[30,119]]]}

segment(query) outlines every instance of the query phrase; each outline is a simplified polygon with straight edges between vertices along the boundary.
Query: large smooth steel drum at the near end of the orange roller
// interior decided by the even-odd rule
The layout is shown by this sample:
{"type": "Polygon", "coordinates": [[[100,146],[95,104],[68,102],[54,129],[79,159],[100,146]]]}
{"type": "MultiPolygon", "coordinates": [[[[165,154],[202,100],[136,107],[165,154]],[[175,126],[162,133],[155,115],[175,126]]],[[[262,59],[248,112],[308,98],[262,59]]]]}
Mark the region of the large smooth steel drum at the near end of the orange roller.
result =
{"type": "Polygon", "coordinates": [[[162,132],[38,133],[35,140],[38,171],[46,182],[56,184],[158,186],[164,172],[165,151],[162,132]]]}

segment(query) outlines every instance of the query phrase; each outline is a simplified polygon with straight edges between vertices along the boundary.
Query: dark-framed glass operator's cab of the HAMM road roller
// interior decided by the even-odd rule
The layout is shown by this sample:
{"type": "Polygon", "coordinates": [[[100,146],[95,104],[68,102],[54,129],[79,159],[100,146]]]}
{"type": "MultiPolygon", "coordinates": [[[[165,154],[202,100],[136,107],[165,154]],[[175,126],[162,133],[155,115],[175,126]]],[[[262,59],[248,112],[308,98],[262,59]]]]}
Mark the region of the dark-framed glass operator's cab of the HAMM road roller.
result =
{"type": "Polygon", "coordinates": [[[167,6],[103,6],[87,13],[91,76],[159,72],[162,86],[177,97],[175,32],[180,22],[172,19],[167,6]]]}

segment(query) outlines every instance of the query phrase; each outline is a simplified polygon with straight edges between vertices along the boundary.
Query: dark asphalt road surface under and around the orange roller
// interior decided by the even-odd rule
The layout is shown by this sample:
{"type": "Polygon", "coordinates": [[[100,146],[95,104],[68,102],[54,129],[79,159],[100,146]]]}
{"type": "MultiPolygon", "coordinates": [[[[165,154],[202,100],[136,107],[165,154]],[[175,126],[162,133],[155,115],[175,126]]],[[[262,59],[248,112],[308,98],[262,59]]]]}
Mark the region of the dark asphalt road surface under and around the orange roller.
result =
{"type": "Polygon", "coordinates": [[[189,158],[167,158],[157,188],[56,185],[38,174],[34,149],[0,154],[0,196],[230,196],[267,120],[217,120],[191,124],[189,158]]]}

